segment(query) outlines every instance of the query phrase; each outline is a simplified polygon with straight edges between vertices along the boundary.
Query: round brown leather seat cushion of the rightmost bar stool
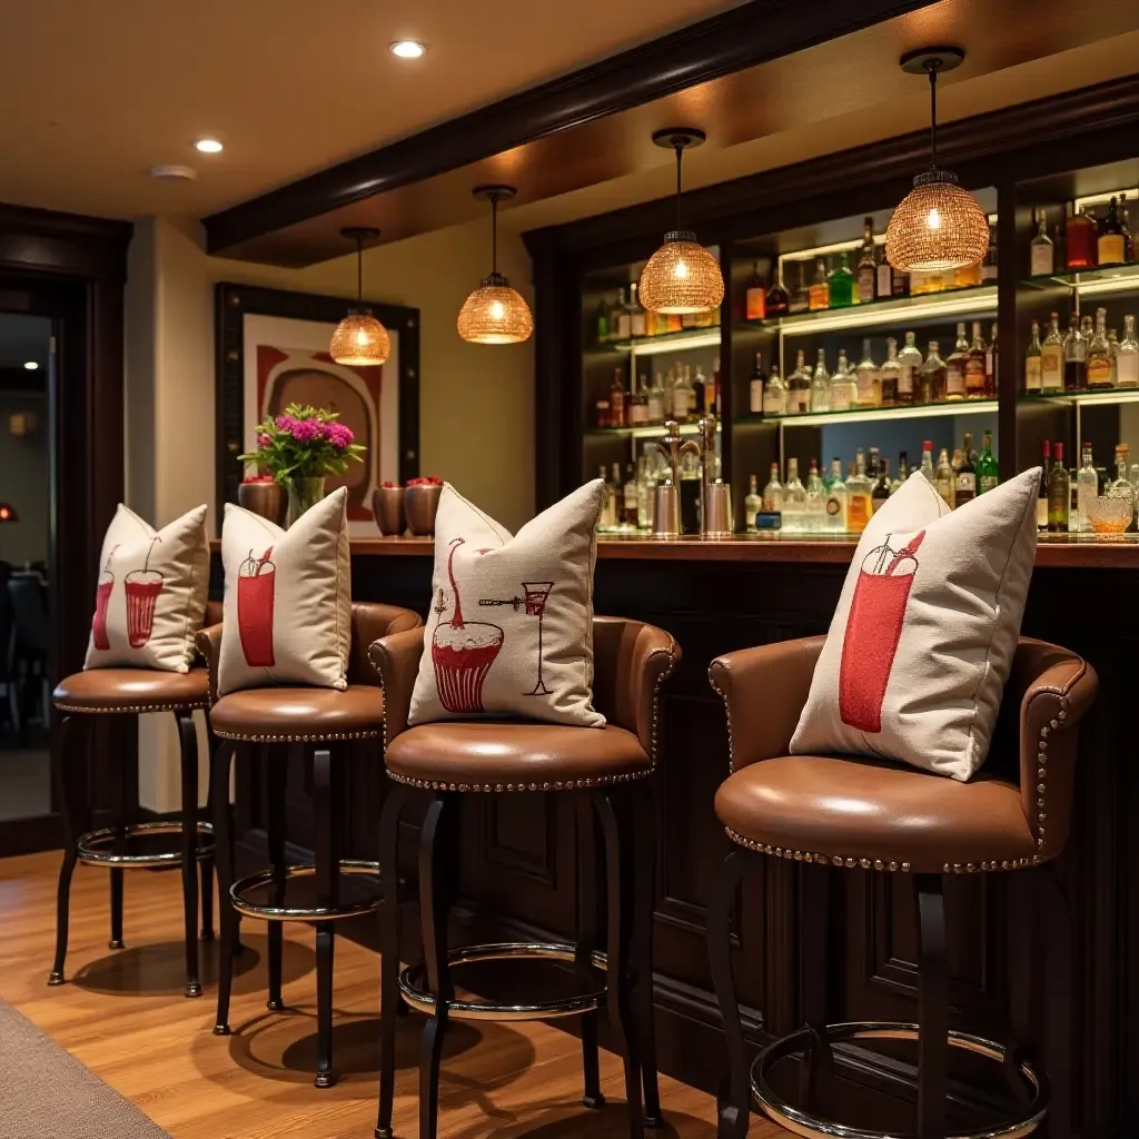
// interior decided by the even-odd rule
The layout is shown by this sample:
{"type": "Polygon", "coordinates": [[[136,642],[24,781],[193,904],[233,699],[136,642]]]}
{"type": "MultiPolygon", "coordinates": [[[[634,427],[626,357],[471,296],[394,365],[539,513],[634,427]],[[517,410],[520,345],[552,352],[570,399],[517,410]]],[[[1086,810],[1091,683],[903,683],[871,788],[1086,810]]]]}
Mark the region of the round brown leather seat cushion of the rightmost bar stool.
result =
{"type": "Polygon", "coordinates": [[[753,763],[720,785],[715,813],[735,842],[833,866],[943,874],[1035,853],[1016,784],[982,773],[933,789],[925,771],[854,756],[753,763]]]}

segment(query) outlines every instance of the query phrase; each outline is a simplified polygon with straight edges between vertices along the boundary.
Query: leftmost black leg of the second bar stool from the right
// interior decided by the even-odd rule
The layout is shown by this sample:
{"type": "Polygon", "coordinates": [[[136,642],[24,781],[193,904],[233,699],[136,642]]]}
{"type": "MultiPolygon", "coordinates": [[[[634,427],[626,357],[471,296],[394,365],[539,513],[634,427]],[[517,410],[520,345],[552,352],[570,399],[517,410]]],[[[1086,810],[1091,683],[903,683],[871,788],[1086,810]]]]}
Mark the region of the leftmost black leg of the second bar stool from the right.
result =
{"type": "Polygon", "coordinates": [[[387,780],[379,817],[379,875],[384,903],[379,909],[379,1115],[376,1139],[393,1139],[395,1106],[395,1030],[400,1006],[400,812],[403,787],[387,780]]]}

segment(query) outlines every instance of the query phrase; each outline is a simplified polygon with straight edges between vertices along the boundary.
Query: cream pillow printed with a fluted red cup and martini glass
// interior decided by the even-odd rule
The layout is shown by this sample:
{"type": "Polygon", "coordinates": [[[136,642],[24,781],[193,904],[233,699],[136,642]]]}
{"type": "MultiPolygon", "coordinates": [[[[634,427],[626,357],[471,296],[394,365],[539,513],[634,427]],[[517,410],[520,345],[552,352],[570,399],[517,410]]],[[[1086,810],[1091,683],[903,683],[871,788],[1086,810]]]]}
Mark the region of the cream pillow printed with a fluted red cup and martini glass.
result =
{"type": "Polygon", "coordinates": [[[592,706],[593,565],[604,494],[595,478],[511,538],[443,486],[426,652],[409,723],[480,713],[605,723],[592,706]]]}

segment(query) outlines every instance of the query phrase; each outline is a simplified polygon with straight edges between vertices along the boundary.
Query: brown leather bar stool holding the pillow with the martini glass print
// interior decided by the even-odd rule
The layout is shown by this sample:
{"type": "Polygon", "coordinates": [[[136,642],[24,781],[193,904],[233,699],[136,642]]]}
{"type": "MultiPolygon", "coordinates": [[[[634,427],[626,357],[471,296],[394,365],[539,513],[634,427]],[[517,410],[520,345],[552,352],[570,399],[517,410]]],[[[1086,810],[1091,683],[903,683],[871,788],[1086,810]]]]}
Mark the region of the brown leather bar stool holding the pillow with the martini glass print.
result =
{"type": "Polygon", "coordinates": [[[593,618],[593,705],[604,728],[525,721],[446,721],[408,727],[424,631],[372,646],[384,679],[385,763],[392,784],[380,818],[384,867],[379,1115],[376,1139],[392,1139],[396,1014],[401,1002],[428,1016],[419,1068],[419,1134],[439,1133],[439,1068],[450,1019],[538,1021],[581,1016],[587,1107],[605,1104],[598,1075],[597,1011],[624,1060],[629,1134],[661,1124],[653,1044],[655,822],[648,780],[661,754],[661,686],[680,647],[653,625],[593,618]],[[424,960],[400,973],[394,868],[403,789],[431,793],[419,841],[419,924],[424,960]],[[574,944],[503,943],[451,951],[448,917],[458,877],[459,804],[469,793],[568,792],[577,797],[577,937],[574,944]],[[598,939],[598,849],[604,836],[606,943],[598,939]],[[452,968],[489,960],[570,962],[580,991],[558,1000],[502,1006],[454,995],[452,968]],[[604,973],[604,977],[600,975],[604,973]],[[641,1106],[644,1087],[645,1106],[641,1106]]]}

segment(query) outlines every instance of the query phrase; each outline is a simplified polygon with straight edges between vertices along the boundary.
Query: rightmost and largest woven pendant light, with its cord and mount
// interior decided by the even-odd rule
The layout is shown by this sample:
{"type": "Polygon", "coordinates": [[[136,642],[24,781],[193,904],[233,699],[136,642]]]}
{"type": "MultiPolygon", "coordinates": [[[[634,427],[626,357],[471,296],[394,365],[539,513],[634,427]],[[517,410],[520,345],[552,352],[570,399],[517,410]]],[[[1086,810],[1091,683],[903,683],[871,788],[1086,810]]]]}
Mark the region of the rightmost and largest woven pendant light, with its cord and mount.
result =
{"type": "Polygon", "coordinates": [[[989,218],[976,198],[937,167],[937,76],[959,67],[959,48],[923,48],[902,56],[902,71],[929,76],[929,169],[913,179],[886,227],[886,260],[902,272],[980,264],[989,249],[989,218]]]}

